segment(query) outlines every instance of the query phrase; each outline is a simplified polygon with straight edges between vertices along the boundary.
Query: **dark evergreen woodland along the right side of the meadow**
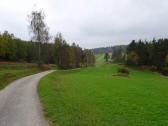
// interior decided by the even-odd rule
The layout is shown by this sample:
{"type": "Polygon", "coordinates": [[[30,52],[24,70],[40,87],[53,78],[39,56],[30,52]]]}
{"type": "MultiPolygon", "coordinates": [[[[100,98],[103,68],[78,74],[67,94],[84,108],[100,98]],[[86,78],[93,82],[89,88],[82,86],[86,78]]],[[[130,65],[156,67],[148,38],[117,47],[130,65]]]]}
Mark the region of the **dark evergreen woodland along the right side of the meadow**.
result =
{"type": "MultiPolygon", "coordinates": [[[[105,53],[105,60],[110,58],[105,53]]],[[[130,66],[147,66],[153,71],[168,75],[168,39],[153,39],[152,41],[133,40],[126,48],[112,50],[112,61],[130,66]]]]}

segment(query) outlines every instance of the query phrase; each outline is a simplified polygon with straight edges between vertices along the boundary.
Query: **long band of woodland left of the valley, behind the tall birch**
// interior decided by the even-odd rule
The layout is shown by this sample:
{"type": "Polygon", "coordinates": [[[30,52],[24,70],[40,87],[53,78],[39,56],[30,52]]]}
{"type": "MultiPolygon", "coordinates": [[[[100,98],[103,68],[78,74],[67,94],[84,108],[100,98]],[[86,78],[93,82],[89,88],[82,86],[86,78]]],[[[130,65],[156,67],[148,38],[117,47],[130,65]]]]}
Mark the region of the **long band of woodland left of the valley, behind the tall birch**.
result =
{"type": "Polygon", "coordinates": [[[5,31],[0,34],[0,60],[26,61],[37,63],[41,46],[41,61],[46,64],[57,64],[62,69],[94,65],[95,57],[91,50],[83,50],[73,43],[69,45],[58,33],[53,43],[23,41],[5,31]]]}

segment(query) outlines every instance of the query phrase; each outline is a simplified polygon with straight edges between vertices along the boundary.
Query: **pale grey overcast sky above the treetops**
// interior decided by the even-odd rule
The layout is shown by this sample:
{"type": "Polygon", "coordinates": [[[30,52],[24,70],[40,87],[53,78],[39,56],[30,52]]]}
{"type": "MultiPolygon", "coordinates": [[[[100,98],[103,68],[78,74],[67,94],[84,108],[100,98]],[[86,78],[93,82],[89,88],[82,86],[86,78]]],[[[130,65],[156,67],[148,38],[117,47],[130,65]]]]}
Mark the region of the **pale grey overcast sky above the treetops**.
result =
{"type": "Polygon", "coordinates": [[[0,0],[0,31],[30,40],[33,9],[44,10],[52,36],[84,48],[168,37],[168,0],[0,0]]]}

